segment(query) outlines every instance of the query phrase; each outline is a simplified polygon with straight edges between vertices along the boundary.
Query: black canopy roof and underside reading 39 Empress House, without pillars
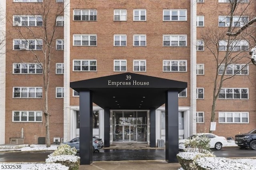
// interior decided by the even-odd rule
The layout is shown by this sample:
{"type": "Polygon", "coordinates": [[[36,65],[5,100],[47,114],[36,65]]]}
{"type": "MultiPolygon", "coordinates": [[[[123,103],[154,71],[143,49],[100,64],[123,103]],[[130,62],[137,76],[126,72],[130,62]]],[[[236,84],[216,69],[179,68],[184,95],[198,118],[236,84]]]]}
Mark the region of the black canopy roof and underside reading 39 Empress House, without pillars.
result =
{"type": "Polygon", "coordinates": [[[122,73],[70,83],[77,92],[92,91],[92,101],[101,108],[146,110],[165,103],[166,91],[180,93],[186,82],[135,73],[122,73]]]}

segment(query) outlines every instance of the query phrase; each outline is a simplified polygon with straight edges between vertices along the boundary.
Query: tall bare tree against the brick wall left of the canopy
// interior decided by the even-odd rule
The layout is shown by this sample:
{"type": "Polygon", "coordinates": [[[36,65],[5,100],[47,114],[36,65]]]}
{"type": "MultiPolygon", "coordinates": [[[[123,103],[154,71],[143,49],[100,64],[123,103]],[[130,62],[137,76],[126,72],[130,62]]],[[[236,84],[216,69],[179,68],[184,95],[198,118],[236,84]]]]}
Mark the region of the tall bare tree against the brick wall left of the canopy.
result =
{"type": "Polygon", "coordinates": [[[64,15],[64,4],[56,3],[54,0],[44,0],[42,3],[31,3],[22,10],[20,8],[14,8],[17,15],[11,16],[11,22],[13,22],[18,36],[22,38],[24,48],[32,53],[33,59],[31,60],[42,68],[46,147],[50,147],[50,112],[48,108],[48,104],[51,102],[48,99],[50,67],[51,60],[56,57],[54,56],[55,39],[60,38],[58,36],[63,37],[63,27],[62,29],[58,27],[59,25],[63,26],[63,20],[58,20],[58,17],[64,15]],[[21,11],[22,13],[20,13],[21,11]],[[26,16],[31,17],[33,22],[28,22],[26,16]]]}

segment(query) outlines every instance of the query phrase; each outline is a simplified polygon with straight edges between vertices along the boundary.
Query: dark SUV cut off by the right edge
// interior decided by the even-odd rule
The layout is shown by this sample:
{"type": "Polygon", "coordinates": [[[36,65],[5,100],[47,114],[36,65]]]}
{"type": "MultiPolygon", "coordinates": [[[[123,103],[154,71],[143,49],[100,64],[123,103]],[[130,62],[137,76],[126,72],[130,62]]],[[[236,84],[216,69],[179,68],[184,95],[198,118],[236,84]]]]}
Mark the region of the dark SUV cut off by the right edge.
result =
{"type": "Polygon", "coordinates": [[[250,147],[256,150],[256,129],[251,130],[248,133],[236,134],[235,143],[241,148],[250,147]]]}

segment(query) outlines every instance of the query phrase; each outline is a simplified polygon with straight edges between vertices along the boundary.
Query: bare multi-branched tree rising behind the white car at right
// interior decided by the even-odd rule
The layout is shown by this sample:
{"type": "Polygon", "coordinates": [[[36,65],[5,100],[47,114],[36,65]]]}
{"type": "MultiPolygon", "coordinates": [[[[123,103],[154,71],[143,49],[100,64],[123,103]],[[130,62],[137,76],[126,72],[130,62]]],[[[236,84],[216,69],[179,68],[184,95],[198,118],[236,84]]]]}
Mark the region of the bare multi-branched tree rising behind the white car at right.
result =
{"type": "MultiPolygon", "coordinates": [[[[223,83],[232,78],[236,74],[247,74],[247,67],[250,61],[246,61],[243,65],[236,65],[239,61],[245,61],[245,57],[248,58],[248,51],[254,43],[249,43],[248,40],[254,40],[253,32],[244,32],[245,29],[239,29],[240,24],[244,24],[244,27],[248,27],[248,8],[253,2],[248,4],[240,4],[240,0],[233,1],[230,0],[229,14],[226,18],[223,18],[227,22],[219,21],[219,24],[223,24],[223,28],[205,28],[200,39],[204,40],[204,46],[206,50],[210,51],[213,56],[214,68],[214,85],[213,85],[213,96],[212,96],[212,109],[211,109],[211,119],[210,122],[215,121],[215,109],[216,101],[220,97],[220,92],[222,92],[223,83]],[[226,25],[225,25],[226,24],[226,25]],[[236,36],[234,36],[236,35],[236,36]],[[242,40],[242,41],[241,41],[242,40]],[[227,73],[229,67],[236,66],[235,71],[232,73],[227,73]]],[[[252,14],[250,14],[251,16],[252,14]]],[[[250,41],[251,42],[251,41],[250,41]]],[[[241,93],[241,92],[240,92],[241,93]]],[[[209,132],[212,132],[209,129],[209,132]]]]}

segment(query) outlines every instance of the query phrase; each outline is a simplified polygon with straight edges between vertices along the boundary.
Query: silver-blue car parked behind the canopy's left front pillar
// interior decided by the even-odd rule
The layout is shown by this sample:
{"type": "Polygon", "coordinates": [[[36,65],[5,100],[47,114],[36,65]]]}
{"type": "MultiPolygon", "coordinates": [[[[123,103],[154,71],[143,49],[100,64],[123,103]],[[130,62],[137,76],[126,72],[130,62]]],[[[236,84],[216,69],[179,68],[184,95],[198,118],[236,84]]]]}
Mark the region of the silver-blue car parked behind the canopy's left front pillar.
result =
{"type": "MultiPolygon", "coordinates": [[[[76,137],[68,142],[63,142],[62,144],[68,144],[70,147],[75,147],[76,150],[79,152],[80,151],[80,138],[76,137]]],[[[103,148],[104,144],[102,142],[102,139],[93,136],[92,137],[92,151],[98,151],[100,148],[103,148]]]]}

